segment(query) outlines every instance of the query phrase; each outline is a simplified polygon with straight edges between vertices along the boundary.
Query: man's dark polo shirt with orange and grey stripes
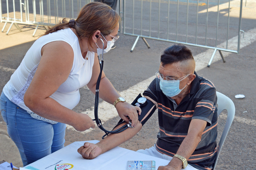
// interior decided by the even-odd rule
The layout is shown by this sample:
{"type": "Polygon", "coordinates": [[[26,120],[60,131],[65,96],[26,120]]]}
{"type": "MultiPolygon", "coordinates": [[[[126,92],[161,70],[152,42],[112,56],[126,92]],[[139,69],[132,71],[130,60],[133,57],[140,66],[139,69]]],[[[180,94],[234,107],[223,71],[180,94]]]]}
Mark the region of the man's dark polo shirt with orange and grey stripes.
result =
{"type": "Polygon", "coordinates": [[[207,121],[207,125],[196,150],[188,159],[188,164],[197,169],[212,169],[216,158],[218,124],[214,85],[196,74],[189,94],[177,105],[175,100],[164,95],[159,81],[154,79],[143,93],[158,103],[157,151],[173,157],[188,134],[191,119],[202,119],[207,121]]]}

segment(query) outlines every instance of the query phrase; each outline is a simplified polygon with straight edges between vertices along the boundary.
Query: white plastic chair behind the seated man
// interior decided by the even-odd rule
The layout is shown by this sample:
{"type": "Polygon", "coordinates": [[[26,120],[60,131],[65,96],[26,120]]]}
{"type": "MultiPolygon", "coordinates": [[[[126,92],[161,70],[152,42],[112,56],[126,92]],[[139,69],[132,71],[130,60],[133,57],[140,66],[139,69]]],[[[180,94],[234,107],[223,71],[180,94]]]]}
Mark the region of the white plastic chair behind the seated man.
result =
{"type": "Polygon", "coordinates": [[[217,146],[217,156],[216,156],[215,162],[213,164],[213,170],[215,169],[215,166],[217,164],[217,161],[218,161],[218,158],[220,155],[221,148],[222,148],[223,143],[228,135],[229,128],[230,128],[230,126],[233,122],[233,119],[235,117],[235,105],[234,105],[233,101],[230,98],[228,98],[226,95],[224,95],[220,92],[216,92],[216,94],[217,94],[217,104],[218,104],[218,118],[220,116],[220,113],[223,110],[228,111],[228,117],[226,120],[225,127],[223,129],[222,135],[220,137],[220,142],[217,146]]]}

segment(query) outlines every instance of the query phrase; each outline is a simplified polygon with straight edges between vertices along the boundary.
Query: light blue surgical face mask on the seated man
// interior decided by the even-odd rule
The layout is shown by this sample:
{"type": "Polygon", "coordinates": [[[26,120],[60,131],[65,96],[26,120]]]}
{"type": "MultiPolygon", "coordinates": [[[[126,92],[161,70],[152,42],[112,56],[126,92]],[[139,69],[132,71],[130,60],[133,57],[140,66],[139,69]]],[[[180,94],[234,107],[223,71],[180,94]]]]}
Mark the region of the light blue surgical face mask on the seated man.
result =
{"type": "MultiPolygon", "coordinates": [[[[186,77],[188,77],[188,75],[186,77]]],[[[186,77],[184,77],[183,79],[185,79],[186,77]]],[[[161,76],[159,77],[159,79],[160,79],[160,89],[163,91],[163,93],[166,96],[169,96],[169,97],[177,96],[187,86],[186,84],[186,86],[183,89],[180,89],[180,81],[183,79],[164,80],[161,76]]]]}

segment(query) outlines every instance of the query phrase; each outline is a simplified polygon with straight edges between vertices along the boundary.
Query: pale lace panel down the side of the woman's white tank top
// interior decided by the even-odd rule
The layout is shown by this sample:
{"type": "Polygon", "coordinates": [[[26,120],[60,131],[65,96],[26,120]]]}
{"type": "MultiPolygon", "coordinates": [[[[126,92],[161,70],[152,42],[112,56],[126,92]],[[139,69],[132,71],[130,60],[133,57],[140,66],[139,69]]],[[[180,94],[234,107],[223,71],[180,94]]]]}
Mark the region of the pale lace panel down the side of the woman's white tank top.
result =
{"type": "Polygon", "coordinates": [[[19,105],[21,102],[24,102],[24,95],[25,92],[28,89],[28,86],[30,85],[30,82],[32,81],[35,73],[36,73],[36,69],[38,67],[39,63],[30,71],[30,73],[28,74],[28,79],[26,81],[26,83],[24,84],[24,86],[20,89],[20,91],[12,97],[12,102],[19,105]]]}

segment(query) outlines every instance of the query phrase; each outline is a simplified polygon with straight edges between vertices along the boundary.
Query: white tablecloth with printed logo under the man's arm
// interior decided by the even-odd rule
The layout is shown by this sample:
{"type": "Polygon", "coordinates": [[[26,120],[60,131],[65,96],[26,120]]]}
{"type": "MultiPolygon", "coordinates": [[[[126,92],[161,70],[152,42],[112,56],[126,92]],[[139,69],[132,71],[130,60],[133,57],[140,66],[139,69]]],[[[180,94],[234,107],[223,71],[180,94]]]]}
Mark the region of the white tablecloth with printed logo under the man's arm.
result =
{"type": "MultiPolygon", "coordinates": [[[[98,143],[99,141],[80,141],[69,144],[68,146],[56,151],[44,158],[33,162],[24,168],[32,170],[126,170],[127,161],[156,161],[158,166],[169,163],[168,160],[152,157],[139,152],[131,151],[121,147],[115,147],[94,159],[84,159],[77,152],[77,149],[85,142],[98,143]]],[[[194,169],[188,165],[185,170],[194,169]]]]}

